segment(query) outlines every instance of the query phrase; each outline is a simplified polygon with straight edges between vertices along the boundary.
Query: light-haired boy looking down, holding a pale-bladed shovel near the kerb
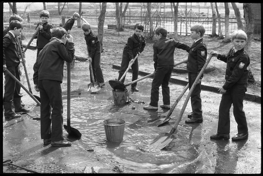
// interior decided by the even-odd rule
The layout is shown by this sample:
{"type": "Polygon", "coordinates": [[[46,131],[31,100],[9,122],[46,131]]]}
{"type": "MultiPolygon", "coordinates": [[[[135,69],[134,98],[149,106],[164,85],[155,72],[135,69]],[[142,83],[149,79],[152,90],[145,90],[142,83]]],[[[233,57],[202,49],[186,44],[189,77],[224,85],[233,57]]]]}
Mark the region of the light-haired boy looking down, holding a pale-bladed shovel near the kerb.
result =
{"type": "MultiPolygon", "coordinates": [[[[100,87],[105,86],[102,69],[100,66],[101,45],[98,36],[91,30],[89,23],[82,24],[84,38],[89,52],[89,60],[91,61],[94,81],[99,82],[100,87]]],[[[90,71],[90,70],[89,70],[90,71]]],[[[90,73],[90,81],[92,81],[90,73]]]]}

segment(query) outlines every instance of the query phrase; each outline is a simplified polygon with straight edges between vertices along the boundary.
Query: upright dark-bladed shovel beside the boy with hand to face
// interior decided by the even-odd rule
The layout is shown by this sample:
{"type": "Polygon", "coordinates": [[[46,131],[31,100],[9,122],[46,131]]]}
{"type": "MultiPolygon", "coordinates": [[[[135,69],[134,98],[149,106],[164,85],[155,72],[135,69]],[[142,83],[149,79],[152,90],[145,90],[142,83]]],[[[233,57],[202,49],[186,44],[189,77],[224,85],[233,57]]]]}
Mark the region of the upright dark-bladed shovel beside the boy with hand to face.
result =
{"type": "Polygon", "coordinates": [[[69,135],[79,138],[79,137],[81,137],[81,133],[77,129],[70,127],[70,69],[71,69],[70,63],[67,62],[67,70],[68,70],[67,125],[63,125],[63,126],[64,126],[65,130],[67,130],[69,135]]]}

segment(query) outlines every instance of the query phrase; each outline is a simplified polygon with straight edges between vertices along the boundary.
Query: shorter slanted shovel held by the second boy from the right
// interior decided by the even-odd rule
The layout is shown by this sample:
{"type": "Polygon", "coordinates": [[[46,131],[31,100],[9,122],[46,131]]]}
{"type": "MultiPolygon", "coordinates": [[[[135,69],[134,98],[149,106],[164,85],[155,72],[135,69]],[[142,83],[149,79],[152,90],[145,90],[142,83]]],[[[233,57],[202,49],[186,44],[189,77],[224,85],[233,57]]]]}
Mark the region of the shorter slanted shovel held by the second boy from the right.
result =
{"type": "Polygon", "coordinates": [[[163,120],[162,122],[158,123],[157,126],[159,127],[160,125],[168,122],[171,118],[170,118],[170,115],[173,113],[174,111],[174,108],[175,106],[178,104],[178,102],[180,101],[180,99],[183,97],[183,95],[185,94],[186,90],[188,89],[189,87],[189,84],[186,85],[186,87],[184,88],[183,92],[179,95],[179,97],[175,100],[173,106],[171,107],[171,109],[168,111],[168,112],[165,112],[163,114],[161,114],[160,116],[154,118],[154,119],[151,119],[151,120],[148,120],[147,122],[150,123],[150,122],[154,122],[156,120],[163,120]]]}

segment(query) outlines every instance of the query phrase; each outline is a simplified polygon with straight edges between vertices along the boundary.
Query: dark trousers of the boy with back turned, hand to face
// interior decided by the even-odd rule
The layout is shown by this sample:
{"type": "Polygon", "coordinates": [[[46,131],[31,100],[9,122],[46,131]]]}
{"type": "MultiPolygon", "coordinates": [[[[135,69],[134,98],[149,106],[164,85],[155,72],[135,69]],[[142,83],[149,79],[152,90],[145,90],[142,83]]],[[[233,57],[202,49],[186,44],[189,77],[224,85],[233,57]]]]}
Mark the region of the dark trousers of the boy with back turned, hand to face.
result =
{"type": "Polygon", "coordinates": [[[38,89],[40,91],[40,131],[41,139],[60,141],[63,137],[63,103],[61,82],[56,80],[39,80],[38,89]],[[50,105],[52,107],[51,119],[50,105]],[[52,130],[50,125],[52,122],[52,130]]]}

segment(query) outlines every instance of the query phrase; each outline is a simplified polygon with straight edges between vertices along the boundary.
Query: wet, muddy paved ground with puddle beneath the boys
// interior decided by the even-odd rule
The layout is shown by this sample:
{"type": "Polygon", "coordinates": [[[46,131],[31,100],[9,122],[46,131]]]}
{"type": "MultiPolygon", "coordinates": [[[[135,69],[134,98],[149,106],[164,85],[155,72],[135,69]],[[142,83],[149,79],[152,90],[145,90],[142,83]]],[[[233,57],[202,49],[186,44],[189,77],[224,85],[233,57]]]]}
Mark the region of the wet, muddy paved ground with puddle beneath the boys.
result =
{"type": "MultiPolygon", "coordinates": [[[[35,51],[30,51],[36,55],[35,51]]],[[[30,57],[27,56],[28,67],[30,57]]],[[[33,59],[32,59],[33,60],[33,59]]],[[[149,144],[158,134],[169,133],[185,101],[186,94],[179,101],[168,123],[157,127],[157,122],[148,120],[168,110],[143,110],[150,101],[151,78],[138,82],[139,92],[127,87],[131,101],[128,105],[114,105],[109,80],[118,77],[118,70],[104,69],[106,85],[96,94],[87,91],[90,83],[88,62],[75,62],[71,71],[71,126],[82,134],[74,138],[63,131],[71,147],[43,145],[40,138],[40,107],[22,90],[23,102],[31,111],[21,118],[3,118],[3,160],[42,173],[261,173],[261,104],[244,101],[249,138],[243,141],[215,141],[210,135],[216,133],[218,108],[221,94],[202,91],[203,123],[186,124],[191,112],[188,103],[183,118],[175,133],[174,140],[164,149],[149,144]],[[79,95],[79,93],[81,94],[79,95]],[[145,103],[136,103],[145,102],[145,103]],[[126,121],[123,141],[113,143],[106,140],[103,121],[122,118],[126,121]]],[[[28,69],[29,77],[33,71],[28,69]]],[[[142,76],[139,76],[142,77],[142,76]]],[[[32,80],[31,80],[32,81],[32,80]]],[[[131,81],[127,73],[125,83],[131,81]]],[[[23,83],[24,84],[24,83],[23,83]]],[[[27,84],[24,84],[27,85],[27,84]]],[[[33,82],[31,83],[33,88],[33,82]]],[[[170,84],[171,105],[183,91],[184,86],[170,84]]],[[[67,70],[64,69],[62,84],[64,125],[67,124],[67,70]]],[[[39,95],[32,90],[34,95],[39,95]]],[[[161,88],[160,88],[161,92],[161,88]]],[[[162,95],[159,95],[162,103],[162,95]]],[[[237,125],[231,115],[230,137],[237,133],[237,125]]],[[[4,173],[28,173],[14,167],[3,166],[4,173]]]]}

